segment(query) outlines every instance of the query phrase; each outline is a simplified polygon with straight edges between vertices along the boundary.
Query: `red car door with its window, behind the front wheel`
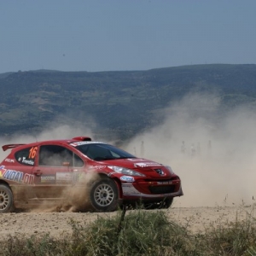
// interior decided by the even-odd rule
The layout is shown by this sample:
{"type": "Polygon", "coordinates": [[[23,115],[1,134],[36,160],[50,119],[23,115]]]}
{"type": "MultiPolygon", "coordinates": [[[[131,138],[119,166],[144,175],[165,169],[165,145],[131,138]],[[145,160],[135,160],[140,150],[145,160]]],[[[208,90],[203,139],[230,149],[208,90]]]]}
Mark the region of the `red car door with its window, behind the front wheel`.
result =
{"type": "Polygon", "coordinates": [[[56,200],[63,197],[65,189],[73,185],[74,153],[61,144],[41,144],[38,148],[37,166],[34,166],[34,192],[38,200],[56,200]]]}

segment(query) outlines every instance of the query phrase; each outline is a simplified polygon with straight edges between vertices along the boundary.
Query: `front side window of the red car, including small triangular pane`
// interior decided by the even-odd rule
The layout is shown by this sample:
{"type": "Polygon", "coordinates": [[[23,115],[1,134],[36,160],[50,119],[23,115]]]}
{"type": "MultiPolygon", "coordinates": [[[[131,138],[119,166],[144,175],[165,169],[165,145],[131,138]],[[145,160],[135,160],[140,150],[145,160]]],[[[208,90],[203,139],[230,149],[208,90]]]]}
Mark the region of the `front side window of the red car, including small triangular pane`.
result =
{"type": "Polygon", "coordinates": [[[42,145],[39,166],[84,166],[83,160],[67,148],[58,145],[42,145]]]}

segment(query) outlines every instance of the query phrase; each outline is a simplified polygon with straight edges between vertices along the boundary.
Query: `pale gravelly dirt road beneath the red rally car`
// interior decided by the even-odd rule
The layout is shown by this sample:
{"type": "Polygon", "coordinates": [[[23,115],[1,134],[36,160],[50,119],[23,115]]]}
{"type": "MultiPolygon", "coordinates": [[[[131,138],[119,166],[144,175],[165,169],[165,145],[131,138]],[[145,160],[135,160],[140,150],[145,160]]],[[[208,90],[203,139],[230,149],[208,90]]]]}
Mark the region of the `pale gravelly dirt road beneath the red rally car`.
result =
{"type": "MultiPolygon", "coordinates": [[[[156,211],[156,210],[152,210],[156,211]]],[[[253,206],[247,207],[171,207],[166,212],[168,219],[188,227],[193,232],[204,232],[210,225],[218,226],[227,221],[241,220],[255,215],[253,206]]],[[[131,211],[127,211],[129,214],[131,211]]],[[[93,222],[98,216],[109,218],[117,212],[19,212],[0,214],[0,239],[11,236],[32,236],[49,233],[50,236],[60,237],[70,233],[70,219],[79,224],[93,222]]]]}

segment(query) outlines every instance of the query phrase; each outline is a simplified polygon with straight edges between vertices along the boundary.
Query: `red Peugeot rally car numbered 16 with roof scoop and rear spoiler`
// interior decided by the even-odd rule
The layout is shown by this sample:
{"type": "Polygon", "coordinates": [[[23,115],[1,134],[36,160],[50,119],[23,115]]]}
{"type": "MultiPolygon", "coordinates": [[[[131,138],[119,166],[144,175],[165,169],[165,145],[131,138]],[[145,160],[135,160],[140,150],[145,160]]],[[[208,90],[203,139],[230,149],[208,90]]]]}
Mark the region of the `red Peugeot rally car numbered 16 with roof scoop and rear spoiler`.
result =
{"type": "Polygon", "coordinates": [[[2,148],[11,152],[0,164],[0,212],[78,200],[80,208],[86,202],[96,212],[137,202],[167,208],[183,195],[171,167],[90,137],[2,148]]]}

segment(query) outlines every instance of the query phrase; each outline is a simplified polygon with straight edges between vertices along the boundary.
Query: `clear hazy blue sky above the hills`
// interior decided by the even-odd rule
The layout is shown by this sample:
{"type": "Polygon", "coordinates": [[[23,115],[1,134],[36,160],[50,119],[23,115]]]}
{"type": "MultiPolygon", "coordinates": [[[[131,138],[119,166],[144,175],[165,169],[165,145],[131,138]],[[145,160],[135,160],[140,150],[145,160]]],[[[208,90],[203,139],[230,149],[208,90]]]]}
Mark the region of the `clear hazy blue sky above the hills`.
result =
{"type": "Polygon", "coordinates": [[[0,0],[0,73],[256,63],[255,0],[0,0]]]}

